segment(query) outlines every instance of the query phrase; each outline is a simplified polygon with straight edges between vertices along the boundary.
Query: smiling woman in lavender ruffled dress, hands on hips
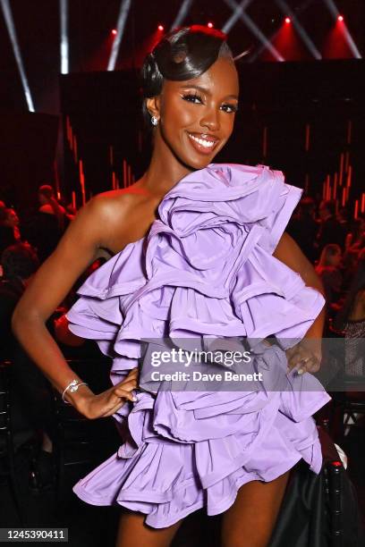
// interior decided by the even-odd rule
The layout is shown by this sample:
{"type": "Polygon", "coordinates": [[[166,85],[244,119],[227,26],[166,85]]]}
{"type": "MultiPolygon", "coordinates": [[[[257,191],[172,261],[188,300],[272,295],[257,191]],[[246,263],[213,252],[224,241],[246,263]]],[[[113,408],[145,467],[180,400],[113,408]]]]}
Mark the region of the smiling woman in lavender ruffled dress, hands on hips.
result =
{"type": "Polygon", "coordinates": [[[44,322],[98,248],[110,249],[115,257],[81,287],[86,298],[68,318],[75,335],[98,340],[115,356],[115,385],[98,395],[83,384],[64,394],[90,419],[128,417],[129,434],[75,492],[96,505],[130,509],[120,521],[118,547],[168,545],[183,517],[204,506],[210,515],[225,512],[224,545],[267,545],[289,469],[303,457],[319,472],[311,415],[329,400],[323,389],[307,393],[299,410],[301,393],[294,389],[284,395],[133,390],[142,338],[164,346],[169,337],[208,343],[212,335],[219,342],[252,334],[255,363],[273,362],[286,379],[288,358],[291,385],[315,381],[303,373],[318,370],[321,359],[322,287],[283,234],[301,190],[263,166],[210,164],[231,136],[238,104],[223,33],[196,26],[174,31],[148,55],[142,79],[153,128],[147,172],[81,209],[15,311],[13,328],[58,391],[81,382],[44,322]],[[273,332],[286,356],[279,346],[260,344],[273,332]]]}

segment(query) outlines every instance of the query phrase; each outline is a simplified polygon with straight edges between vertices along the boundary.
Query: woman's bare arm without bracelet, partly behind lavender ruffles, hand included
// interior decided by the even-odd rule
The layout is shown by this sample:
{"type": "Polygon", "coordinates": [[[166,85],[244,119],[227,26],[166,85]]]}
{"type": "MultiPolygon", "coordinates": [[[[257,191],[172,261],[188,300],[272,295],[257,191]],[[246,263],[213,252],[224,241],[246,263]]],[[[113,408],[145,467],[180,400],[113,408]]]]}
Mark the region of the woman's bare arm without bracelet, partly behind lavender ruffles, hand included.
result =
{"type": "MultiPolygon", "coordinates": [[[[310,264],[308,258],[303,255],[301,248],[298,247],[293,238],[285,231],[276,246],[273,256],[289,266],[294,272],[300,273],[306,285],[317,289],[323,296],[325,295],[323,284],[314,267],[310,264]]],[[[306,370],[310,372],[318,371],[321,360],[321,338],[325,325],[325,316],[326,311],[323,307],[305,334],[304,338],[310,340],[310,342],[307,342],[307,348],[305,347],[305,343],[302,343],[301,346],[295,346],[295,349],[292,348],[287,351],[290,358],[289,366],[291,368],[298,365],[302,359],[308,359],[305,366],[301,364],[302,372],[306,370]]]]}

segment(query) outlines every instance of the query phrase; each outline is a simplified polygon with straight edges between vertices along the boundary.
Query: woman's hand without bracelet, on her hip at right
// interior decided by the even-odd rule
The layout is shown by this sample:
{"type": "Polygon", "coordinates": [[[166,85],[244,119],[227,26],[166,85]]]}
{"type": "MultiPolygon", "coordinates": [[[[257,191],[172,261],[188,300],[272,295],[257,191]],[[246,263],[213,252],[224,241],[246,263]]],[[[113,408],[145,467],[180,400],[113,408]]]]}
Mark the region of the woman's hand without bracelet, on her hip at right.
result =
{"type": "Polygon", "coordinates": [[[321,339],[303,338],[293,348],[286,349],[288,371],[297,367],[298,374],[316,373],[322,360],[321,339]]]}

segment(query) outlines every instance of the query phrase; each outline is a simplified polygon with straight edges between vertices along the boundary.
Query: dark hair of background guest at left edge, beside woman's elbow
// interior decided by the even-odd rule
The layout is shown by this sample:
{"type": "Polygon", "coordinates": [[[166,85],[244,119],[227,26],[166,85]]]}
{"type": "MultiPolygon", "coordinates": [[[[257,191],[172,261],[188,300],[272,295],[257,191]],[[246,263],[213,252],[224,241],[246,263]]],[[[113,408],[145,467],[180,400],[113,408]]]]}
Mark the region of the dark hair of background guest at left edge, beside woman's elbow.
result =
{"type": "Polygon", "coordinates": [[[37,272],[39,261],[36,251],[29,244],[16,243],[5,248],[1,255],[1,265],[5,279],[28,279],[32,273],[37,272]]]}

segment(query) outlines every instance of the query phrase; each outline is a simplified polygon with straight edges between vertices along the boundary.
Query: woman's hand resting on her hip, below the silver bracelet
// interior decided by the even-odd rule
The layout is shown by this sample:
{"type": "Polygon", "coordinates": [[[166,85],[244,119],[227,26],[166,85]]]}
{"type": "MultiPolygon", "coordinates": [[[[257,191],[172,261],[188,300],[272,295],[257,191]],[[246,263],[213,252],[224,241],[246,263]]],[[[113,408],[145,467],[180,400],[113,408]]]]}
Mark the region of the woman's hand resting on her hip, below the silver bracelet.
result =
{"type": "Polygon", "coordinates": [[[90,393],[82,398],[75,397],[72,404],[83,416],[91,420],[112,416],[123,407],[126,400],[136,400],[132,390],[137,387],[137,377],[138,367],[132,368],[122,382],[98,395],[90,393]]]}

